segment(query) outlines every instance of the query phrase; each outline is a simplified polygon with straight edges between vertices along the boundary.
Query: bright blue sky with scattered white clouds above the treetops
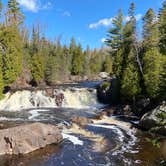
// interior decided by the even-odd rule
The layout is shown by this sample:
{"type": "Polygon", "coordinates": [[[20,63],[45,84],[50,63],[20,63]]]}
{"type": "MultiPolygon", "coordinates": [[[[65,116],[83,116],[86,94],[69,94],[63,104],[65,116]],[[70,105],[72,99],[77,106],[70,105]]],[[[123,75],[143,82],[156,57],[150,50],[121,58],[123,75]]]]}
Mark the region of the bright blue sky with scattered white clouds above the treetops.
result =
{"type": "MultiPolygon", "coordinates": [[[[136,4],[138,33],[141,17],[148,8],[156,12],[163,0],[18,0],[31,28],[35,22],[42,25],[43,33],[51,40],[61,36],[68,44],[72,36],[85,48],[101,47],[111,20],[122,9],[127,19],[129,4],[136,4]]],[[[3,0],[4,4],[7,0],[3,0]]]]}

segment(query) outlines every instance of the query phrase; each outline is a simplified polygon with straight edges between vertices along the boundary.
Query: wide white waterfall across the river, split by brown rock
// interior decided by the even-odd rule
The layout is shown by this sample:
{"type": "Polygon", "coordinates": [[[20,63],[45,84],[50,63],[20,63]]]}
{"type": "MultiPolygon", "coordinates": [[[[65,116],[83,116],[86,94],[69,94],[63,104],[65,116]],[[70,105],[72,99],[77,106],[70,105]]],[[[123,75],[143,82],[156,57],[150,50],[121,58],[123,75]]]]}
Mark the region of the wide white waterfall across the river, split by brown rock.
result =
{"type": "MultiPolygon", "coordinates": [[[[55,96],[63,94],[60,107],[65,108],[99,108],[102,105],[97,101],[95,89],[88,88],[66,88],[55,89],[55,96]]],[[[56,108],[57,102],[54,97],[46,94],[45,90],[38,91],[17,91],[7,93],[5,98],[0,101],[0,110],[19,111],[23,109],[36,108],[56,108]]]]}

